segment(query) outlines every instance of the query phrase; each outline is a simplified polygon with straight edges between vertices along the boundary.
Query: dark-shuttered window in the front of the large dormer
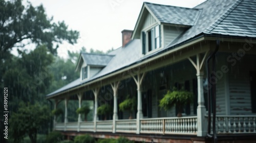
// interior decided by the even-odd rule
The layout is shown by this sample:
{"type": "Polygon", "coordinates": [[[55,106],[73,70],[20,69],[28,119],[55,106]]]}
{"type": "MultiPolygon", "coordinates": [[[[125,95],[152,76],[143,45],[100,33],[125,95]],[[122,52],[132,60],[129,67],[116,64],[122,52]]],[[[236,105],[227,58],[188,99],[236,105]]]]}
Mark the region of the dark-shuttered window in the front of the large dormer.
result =
{"type": "Polygon", "coordinates": [[[142,53],[145,54],[161,47],[161,26],[157,25],[142,32],[142,53]]]}

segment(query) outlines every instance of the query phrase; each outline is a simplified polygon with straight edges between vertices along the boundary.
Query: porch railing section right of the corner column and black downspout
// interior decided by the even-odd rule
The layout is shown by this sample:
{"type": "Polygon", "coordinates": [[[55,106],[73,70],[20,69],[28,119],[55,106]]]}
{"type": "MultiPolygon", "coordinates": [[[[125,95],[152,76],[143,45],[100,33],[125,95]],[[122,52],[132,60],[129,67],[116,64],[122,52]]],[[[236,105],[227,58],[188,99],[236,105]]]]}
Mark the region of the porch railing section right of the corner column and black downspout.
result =
{"type": "Polygon", "coordinates": [[[216,116],[216,132],[218,134],[256,133],[256,116],[216,116]]]}

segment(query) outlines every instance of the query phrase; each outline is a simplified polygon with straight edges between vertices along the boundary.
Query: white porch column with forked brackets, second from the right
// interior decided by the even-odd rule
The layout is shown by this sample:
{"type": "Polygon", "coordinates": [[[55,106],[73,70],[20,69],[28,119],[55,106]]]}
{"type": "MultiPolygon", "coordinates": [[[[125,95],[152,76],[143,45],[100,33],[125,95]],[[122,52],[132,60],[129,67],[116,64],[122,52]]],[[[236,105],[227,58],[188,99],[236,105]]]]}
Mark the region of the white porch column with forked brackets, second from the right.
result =
{"type": "Polygon", "coordinates": [[[136,125],[137,125],[137,130],[136,134],[140,133],[140,119],[143,118],[143,113],[142,113],[142,98],[141,98],[141,82],[144,78],[145,73],[143,72],[142,74],[137,74],[137,79],[132,75],[134,81],[137,84],[137,92],[138,92],[138,104],[137,104],[137,120],[136,120],[136,125]]]}

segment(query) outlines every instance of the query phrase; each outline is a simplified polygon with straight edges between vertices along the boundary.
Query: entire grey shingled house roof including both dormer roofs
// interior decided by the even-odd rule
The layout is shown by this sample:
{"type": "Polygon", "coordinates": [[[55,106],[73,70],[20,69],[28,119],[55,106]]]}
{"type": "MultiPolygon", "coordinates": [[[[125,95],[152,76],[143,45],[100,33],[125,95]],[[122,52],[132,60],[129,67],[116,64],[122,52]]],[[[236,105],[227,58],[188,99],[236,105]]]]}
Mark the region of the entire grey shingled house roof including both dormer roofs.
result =
{"type": "Polygon", "coordinates": [[[144,5],[154,13],[160,22],[188,25],[189,28],[163,49],[143,57],[140,53],[140,39],[134,39],[125,48],[118,48],[113,51],[111,54],[115,54],[115,56],[82,53],[82,58],[88,65],[105,67],[92,78],[83,82],[77,79],[47,96],[68,91],[125,67],[140,63],[202,34],[256,37],[255,0],[208,0],[193,9],[151,3],[144,3],[144,5]]]}

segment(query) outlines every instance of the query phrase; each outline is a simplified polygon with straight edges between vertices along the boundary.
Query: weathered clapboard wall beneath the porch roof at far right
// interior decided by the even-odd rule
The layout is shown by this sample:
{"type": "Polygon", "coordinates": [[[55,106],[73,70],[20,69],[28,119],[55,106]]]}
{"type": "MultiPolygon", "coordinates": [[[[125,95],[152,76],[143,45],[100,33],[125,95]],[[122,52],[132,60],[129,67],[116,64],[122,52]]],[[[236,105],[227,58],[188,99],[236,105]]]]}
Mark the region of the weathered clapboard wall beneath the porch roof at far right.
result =
{"type": "Polygon", "coordinates": [[[245,55],[236,65],[229,65],[229,94],[231,115],[250,115],[250,71],[255,71],[255,56],[245,55]]]}

